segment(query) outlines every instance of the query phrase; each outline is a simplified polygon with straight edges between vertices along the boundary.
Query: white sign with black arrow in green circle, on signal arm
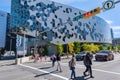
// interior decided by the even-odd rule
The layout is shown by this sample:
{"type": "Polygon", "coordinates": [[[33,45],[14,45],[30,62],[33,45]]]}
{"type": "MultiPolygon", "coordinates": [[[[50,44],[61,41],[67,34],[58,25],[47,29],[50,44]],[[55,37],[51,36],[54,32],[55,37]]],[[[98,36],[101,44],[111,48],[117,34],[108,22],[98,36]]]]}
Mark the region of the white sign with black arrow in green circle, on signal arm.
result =
{"type": "Polygon", "coordinates": [[[115,8],[114,0],[108,0],[103,2],[103,11],[107,11],[109,9],[115,8]]]}

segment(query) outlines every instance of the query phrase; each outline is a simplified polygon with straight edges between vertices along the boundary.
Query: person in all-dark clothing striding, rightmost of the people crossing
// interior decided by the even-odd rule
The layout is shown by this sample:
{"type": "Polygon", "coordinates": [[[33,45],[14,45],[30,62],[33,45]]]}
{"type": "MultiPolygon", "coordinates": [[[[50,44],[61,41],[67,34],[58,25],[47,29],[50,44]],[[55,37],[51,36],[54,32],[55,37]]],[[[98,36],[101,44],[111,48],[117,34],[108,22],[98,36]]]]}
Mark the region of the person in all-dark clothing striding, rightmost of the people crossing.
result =
{"type": "Polygon", "coordinates": [[[91,78],[94,78],[93,75],[92,75],[92,68],[91,68],[91,65],[92,65],[92,60],[91,60],[91,57],[90,57],[90,53],[87,52],[86,56],[84,57],[84,65],[86,67],[86,70],[83,72],[84,76],[87,76],[86,75],[86,72],[89,72],[90,73],[90,77],[91,78]]]}

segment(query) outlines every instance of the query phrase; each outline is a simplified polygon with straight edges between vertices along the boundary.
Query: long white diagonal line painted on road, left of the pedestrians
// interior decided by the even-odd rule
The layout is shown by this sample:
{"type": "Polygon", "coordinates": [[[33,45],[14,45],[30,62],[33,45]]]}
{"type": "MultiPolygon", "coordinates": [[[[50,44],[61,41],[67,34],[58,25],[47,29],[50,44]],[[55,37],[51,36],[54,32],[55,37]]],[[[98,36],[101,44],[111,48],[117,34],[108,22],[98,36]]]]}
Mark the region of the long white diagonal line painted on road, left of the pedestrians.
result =
{"type": "Polygon", "coordinates": [[[66,78],[66,77],[63,77],[63,76],[60,76],[60,75],[57,75],[57,74],[53,74],[53,73],[50,73],[50,72],[45,71],[45,70],[41,70],[41,69],[38,69],[38,68],[35,68],[35,67],[23,65],[23,64],[19,64],[19,65],[22,66],[22,67],[30,68],[30,69],[37,70],[37,71],[40,71],[40,72],[43,72],[43,73],[47,73],[47,74],[49,74],[49,75],[52,75],[52,76],[61,78],[61,79],[63,79],[63,80],[69,80],[69,78],[66,78]]]}

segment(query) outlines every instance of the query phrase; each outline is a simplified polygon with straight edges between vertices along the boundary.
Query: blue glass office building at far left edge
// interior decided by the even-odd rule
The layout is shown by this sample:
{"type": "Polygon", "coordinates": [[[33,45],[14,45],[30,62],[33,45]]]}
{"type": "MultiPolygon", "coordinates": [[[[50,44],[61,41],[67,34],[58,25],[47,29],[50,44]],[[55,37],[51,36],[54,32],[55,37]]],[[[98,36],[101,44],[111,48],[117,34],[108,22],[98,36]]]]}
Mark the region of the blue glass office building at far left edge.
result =
{"type": "Polygon", "coordinates": [[[7,51],[15,50],[15,43],[12,43],[12,41],[16,41],[13,39],[13,35],[9,35],[9,28],[10,14],[0,11],[0,48],[4,48],[7,51]]]}

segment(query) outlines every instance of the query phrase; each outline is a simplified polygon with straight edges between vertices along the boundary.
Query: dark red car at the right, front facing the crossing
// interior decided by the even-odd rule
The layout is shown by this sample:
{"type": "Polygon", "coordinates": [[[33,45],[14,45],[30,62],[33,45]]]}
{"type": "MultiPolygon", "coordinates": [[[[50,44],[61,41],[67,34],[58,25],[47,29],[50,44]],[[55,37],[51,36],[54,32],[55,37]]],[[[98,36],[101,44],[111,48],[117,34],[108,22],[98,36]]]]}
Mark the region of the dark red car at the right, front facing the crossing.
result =
{"type": "Polygon", "coordinates": [[[109,50],[101,50],[95,55],[95,59],[96,61],[99,61],[99,60],[109,61],[114,59],[114,55],[109,50]]]}

